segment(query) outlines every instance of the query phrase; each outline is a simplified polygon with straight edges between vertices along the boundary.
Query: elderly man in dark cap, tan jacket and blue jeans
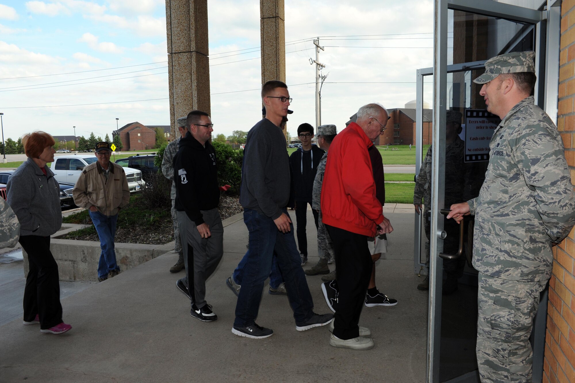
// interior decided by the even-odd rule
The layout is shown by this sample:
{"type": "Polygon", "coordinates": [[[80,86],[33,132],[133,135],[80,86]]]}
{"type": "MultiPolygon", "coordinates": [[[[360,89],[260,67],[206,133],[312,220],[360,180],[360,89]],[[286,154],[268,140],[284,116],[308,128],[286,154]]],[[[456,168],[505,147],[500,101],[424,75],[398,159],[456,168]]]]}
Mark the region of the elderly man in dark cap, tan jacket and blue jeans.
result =
{"type": "Polygon", "coordinates": [[[74,204],[88,209],[100,239],[98,280],[105,281],[120,273],[114,251],[116,221],[121,208],[128,205],[130,190],[124,168],[110,162],[110,144],[99,142],[95,147],[96,162],[86,166],[72,191],[74,204]]]}

